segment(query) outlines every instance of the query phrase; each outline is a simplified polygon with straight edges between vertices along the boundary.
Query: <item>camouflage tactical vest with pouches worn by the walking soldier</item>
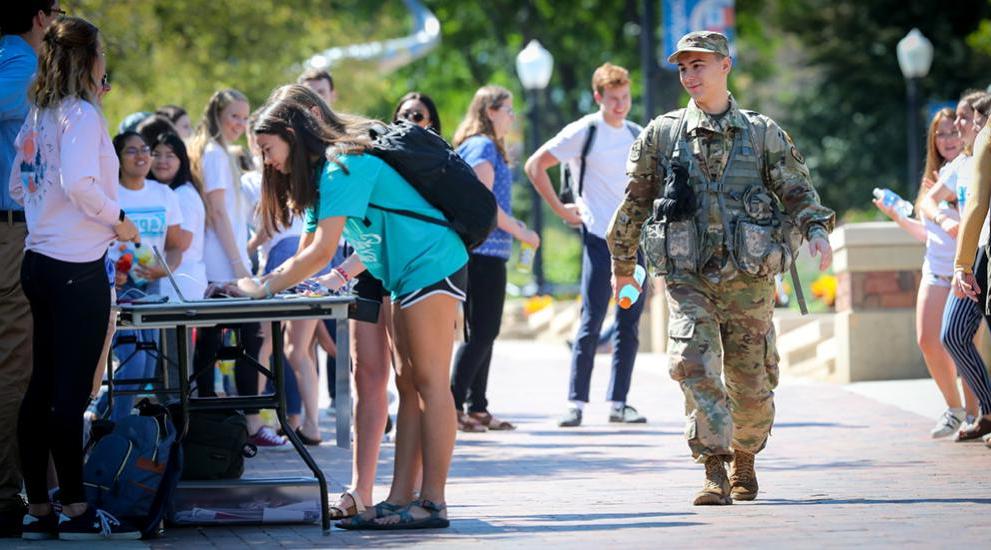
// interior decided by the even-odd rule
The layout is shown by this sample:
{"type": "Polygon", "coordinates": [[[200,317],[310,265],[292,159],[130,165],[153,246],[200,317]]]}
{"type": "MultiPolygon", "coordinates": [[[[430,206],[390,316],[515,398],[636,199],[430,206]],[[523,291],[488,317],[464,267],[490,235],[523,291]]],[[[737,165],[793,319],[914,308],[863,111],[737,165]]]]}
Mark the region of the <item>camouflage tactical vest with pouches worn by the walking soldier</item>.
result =
{"type": "Polygon", "coordinates": [[[759,149],[763,143],[755,139],[763,124],[751,113],[744,116],[748,124],[742,131],[734,130],[732,148],[717,181],[710,180],[704,170],[700,139],[689,139],[684,131],[684,110],[677,124],[667,128],[673,146],[661,162],[689,166],[698,207],[694,219],[667,221],[655,214],[644,224],[641,244],[656,275],[692,273],[717,282],[741,272],[751,277],[773,276],[791,266],[798,243],[786,238],[791,224],[765,183],[768,174],[759,149]],[[710,264],[713,259],[715,266],[710,264]]]}

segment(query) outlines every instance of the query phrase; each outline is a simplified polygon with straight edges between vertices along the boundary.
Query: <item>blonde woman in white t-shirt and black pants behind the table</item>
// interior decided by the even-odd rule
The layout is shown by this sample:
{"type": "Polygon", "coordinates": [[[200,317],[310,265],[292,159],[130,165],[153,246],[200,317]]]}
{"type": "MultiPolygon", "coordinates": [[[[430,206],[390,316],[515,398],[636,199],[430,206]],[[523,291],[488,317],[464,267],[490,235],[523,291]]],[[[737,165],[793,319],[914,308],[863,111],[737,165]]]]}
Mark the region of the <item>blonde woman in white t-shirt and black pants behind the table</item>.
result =
{"type": "MultiPolygon", "coordinates": [[[[233,89],[213,94],[189,144],[193,177],[203,188],[206,205],[206,236],[203,261],[209,282],[224,283],[249,277],[248,219],[251,206],[241,189],[241,170],[227,148],[242,134],[249,115],[248,99],[233,89]]],[[[241,323],[228,328],[238,333],[239,342],[249,357],[257,359],[261,347],[261,326],[241,323]]],[[[214,373],[209,366],[221,345],[220,327],[200,329],[196,340],[194,367],[201,397],[214,395],[214,373]]],[[[258,371],[239,361],[235,366],[238,395],[258,394],[258,371]]],[[[268,426],[263,426],[258,412],[246,410],[249,441],[258,447],[289,449],[289,442],[268,426]]]]}

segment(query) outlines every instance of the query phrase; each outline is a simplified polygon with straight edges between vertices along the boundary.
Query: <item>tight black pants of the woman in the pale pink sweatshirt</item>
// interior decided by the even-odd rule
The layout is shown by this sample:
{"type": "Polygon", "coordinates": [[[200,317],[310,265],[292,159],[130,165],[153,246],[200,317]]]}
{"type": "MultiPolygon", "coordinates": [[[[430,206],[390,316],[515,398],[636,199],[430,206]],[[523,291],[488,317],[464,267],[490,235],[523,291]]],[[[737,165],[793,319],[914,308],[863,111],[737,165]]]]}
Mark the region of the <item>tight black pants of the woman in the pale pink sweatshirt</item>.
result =
{"type": "Polygon", "coordinates": [[[31,382],[17,423],[28,500],[48,502],[48,456],[62,502],[85,502],[83,412],[110,319],[104,259],[63,262],[28,251],[21,287],[34,317],[31,382]]]}

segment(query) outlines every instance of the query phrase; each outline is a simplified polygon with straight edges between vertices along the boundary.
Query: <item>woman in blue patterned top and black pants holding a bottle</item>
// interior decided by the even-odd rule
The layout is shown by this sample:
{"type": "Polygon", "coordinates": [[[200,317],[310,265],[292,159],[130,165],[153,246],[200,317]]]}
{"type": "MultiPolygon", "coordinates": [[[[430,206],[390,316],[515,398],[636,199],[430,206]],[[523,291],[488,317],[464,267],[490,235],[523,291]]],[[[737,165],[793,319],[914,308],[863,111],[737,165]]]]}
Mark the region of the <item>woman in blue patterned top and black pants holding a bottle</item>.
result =
{"type": "Polygon", "coordinates": [[[512,175],[503,145],[513,127],[513,95],[499,86],[475,92],[461,125],[454,133],[454,146],[478,179],[495,194],[499,206],[498,227],[468,261],[468,339],[454,359],[451,392],[458,412],[458,428],[466,432],[511,430],[509,422],[488,411],[485,398],[492,362],[492,346],[499,336],[502,307],[506,301],[506,260],[513,238],[537,248],[540,237],[514,219],[510,209],[512,175]],[[468,402],[468,413],[464,404],[468,402]]]}

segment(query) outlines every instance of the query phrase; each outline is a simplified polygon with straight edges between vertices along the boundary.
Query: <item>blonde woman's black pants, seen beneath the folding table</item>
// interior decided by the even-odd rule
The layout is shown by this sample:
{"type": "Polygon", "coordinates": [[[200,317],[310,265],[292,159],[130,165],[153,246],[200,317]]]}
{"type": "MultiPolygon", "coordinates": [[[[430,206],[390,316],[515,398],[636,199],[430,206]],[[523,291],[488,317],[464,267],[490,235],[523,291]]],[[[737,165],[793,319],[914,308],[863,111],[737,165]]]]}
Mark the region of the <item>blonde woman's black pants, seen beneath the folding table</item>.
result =
{"type": "MultiPolygon", "coordinates": [[[[193,370],[199,373],[196,377],[197,393],[200,397],[213,397],[213,369],[220,351],[221,329],[237,330],[239,345],[244,347],[245,354],[255,360],[262,347],[261,324],[241,323],[224,327],[204,327],[196,334],[196,356],[193,358],[193,370]],[[202,370],[200,370],[202,369],[202,370]]],[[[274,350],[273,350],[274,351],[274,350]]],[[[243,359],[234,364],[234,385],[238,395],[258,395],[258,369],[243,359]]],[[[244,414],[257,414],[257,409],[245,409],[244,414]]]]}

